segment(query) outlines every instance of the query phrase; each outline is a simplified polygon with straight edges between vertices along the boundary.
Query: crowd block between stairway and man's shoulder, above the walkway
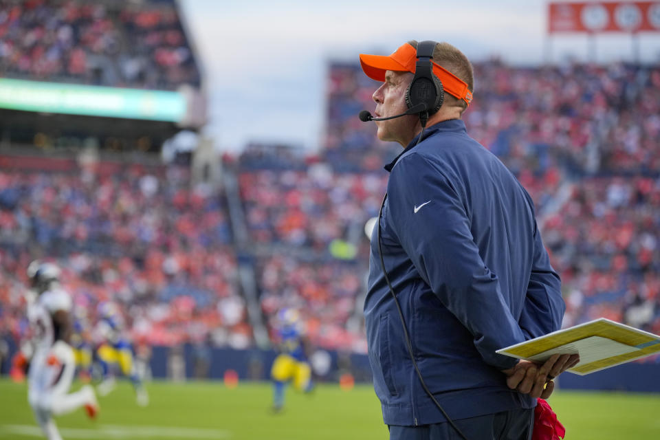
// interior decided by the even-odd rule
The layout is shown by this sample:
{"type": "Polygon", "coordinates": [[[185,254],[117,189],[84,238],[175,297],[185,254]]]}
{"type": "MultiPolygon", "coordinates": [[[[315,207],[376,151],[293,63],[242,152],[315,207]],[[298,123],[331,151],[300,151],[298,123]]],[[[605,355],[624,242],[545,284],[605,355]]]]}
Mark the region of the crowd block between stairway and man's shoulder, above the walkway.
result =
{"type": "Polygon", "coordinates": [[[252,238],[314,250],[349,236],[364,243],[357,238],[364,238],[364,223],[378,214],[385,177],[336,173],[323,164],[304,171],[241,173],[241,199],[252,238]]]}

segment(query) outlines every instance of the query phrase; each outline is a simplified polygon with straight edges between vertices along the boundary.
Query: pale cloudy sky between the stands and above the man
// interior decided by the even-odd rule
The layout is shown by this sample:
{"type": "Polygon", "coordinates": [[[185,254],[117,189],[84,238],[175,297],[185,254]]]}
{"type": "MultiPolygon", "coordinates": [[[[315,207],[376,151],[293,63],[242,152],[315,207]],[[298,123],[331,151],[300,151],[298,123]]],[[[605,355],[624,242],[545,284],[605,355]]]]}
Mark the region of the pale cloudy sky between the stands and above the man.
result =
{"type": "MultiPolygon", "coordinates": [[[[391,54],[412,39],[447,41],[471,61],[499,56],[514,65],[586,61],[591,54],[596,62],[633,58],[626,34],[547,38],[547,0],[179,3],[205,79],[203,133],[222,151],[241,151],[248,142],[318,149],[329,61],[358,63],[360,53],[391,54]]],[[[659,61],[660,36],[641,34],[639,53],[642,61],[659,61]]]]}

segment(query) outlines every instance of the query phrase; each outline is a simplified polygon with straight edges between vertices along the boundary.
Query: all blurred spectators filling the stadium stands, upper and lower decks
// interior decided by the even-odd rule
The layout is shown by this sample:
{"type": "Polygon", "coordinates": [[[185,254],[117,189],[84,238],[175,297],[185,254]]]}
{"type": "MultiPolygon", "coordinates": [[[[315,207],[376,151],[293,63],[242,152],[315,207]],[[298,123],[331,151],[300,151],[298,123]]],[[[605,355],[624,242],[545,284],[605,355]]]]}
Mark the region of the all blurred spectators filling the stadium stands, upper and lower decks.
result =
{"type": "MultiPolygon", "coordinates": [[[[0,0],[0,72],[16,74],[8,72],[12,66],[33,78],[88,81],[87,64],[72,74],[67,65],[41,66],[48,56],[31,58],[34,51],[64,51],[58,54],[70,63],[82,50],[118,66],[110,85],[185,82],[186,51],[177,51],[185,37],[169,3],[140,4],[108,10],[0,0]],[[44,11],[52,25],[39,20],[44,11]],[[100,41],[94,28],[104,29],[100,41]],[[107,41],[113,35],[115,43],[107,41]],[[130,50],[121,46],[126,35],[136,42],[130,50]],[[115,55],[113,44],[120,45],[115,55]],[[131,57],[146,70],[126,67],[131,57]]],[[[564,324],[605,316],[660,333],[660,66],[474,67],[475,99],[465,122],[536,203],[564,281],[564,324]]],[[[248,148],[226,158],[237,171],[252,245],[246,261],[254,265],[263,314],[295,307],[315,344],[358,352],[365,348],[353,319],[369,254],[364,225],[380,208],[382,166],[399,152],[357,118],[373,109],[376,86],[358,66],[333,64],[318,155],[248,148]]],[[[223,190],[192,185],[177,167],[136,166],[122,177],[3,170],[1,325],[20,331],[24,268],[34,256],[50,256],[63,266],[76,304],[94,314],[96,303],[117,302],[134,338],[173,345],[210,335],[219,345],[249,347],[229,206],[223,190]]]]}

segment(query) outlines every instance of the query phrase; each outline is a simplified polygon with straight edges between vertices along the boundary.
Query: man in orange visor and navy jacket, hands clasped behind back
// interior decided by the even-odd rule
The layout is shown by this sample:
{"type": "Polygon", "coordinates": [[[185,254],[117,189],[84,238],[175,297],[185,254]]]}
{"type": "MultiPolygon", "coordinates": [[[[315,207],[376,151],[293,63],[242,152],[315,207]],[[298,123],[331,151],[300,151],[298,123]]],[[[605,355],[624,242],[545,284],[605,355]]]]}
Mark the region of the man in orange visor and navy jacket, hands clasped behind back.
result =
{"type": "MultiPolygon", "coordinates": [[[[386,166],[371,236],[364,315],[375,391],[391,439],[531,439],[536,397],[578,358],[537,366],[495,351],[560,328],[560,278],[531,198],[465,131],[472,65],[448,43],[423,44],[443,103],[376,122],[380,140],[405,149],[386,166]]],[[[391,56],[360,55],[365,74],[383,82],[377,118],[414,107],[406,91],[416,50],[411,41],[391,56]]]]}

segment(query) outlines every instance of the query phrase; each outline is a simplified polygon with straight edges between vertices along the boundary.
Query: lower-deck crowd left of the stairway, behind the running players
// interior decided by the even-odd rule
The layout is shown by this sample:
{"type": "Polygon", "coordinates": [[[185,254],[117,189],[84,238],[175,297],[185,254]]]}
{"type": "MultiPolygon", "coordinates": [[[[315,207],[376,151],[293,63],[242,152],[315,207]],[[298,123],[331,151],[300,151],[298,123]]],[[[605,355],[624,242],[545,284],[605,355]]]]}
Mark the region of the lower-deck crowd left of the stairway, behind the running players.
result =
{"type": "Polygon", "coordinates": [[[61,267],[87,322],[109,301],[134,340],[250,346],[222,191],[190,182],[179,166],[2,170],[0,327],[17,340],[25,330],[26,268],[40,257],[61,267]]]}

